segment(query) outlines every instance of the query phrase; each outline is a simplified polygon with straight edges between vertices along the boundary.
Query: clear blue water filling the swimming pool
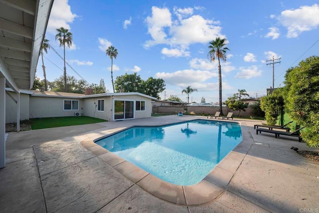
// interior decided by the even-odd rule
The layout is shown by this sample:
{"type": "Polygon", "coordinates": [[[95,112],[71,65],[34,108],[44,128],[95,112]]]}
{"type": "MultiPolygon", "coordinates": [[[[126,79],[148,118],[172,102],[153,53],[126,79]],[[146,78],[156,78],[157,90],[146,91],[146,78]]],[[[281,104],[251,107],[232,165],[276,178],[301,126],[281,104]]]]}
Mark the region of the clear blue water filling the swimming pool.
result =
{"type": "Polygon", "coordinates": [[[200,182],[242,141],[237,123],[193,120],[133,127],[96,143],[166,182],[200,182]]]}

